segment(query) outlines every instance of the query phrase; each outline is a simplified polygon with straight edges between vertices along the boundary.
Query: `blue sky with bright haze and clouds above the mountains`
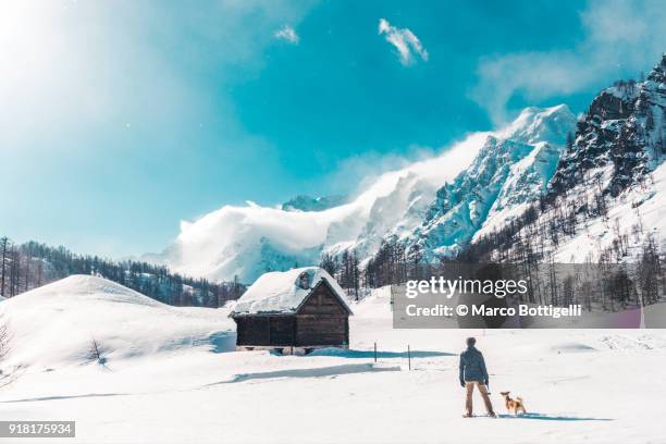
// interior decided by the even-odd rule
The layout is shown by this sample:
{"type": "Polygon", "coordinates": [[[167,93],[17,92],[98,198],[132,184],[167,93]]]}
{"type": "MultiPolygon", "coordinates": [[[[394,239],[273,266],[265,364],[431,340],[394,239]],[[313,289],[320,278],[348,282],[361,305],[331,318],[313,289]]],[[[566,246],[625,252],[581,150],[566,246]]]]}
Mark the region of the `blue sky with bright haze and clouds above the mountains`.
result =
{"type": "Polygon", "coordinates": [[[225,203],[350,193],[522,107],[583,111],[664,23],[658,0],[5,2],[0,233],[140,255],[225,203]]]}

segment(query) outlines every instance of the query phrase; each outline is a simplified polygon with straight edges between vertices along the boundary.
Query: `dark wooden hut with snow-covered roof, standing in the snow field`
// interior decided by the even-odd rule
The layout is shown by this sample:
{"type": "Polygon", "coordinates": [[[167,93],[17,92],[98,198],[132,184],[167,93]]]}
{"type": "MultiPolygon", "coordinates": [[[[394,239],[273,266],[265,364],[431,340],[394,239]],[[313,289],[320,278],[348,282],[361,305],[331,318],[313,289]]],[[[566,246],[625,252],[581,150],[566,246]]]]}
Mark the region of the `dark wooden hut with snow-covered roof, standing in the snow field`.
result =
{"type": "Polygon", "coordinates": [[[238,299],[231,317],[236,349],[308,353],[349,346],[344,291],[318,267],[266,273],[238,299]]]}

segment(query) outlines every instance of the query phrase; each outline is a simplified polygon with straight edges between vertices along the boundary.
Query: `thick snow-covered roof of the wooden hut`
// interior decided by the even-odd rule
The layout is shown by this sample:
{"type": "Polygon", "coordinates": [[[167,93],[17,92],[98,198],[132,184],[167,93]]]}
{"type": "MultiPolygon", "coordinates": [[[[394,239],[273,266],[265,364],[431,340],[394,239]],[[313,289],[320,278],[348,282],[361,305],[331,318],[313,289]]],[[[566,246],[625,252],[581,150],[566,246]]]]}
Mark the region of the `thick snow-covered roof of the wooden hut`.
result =
{"type": "Polygon", "coordinates": [[[262,274],[238,299],[231,316],[295,313],[322,281],[349,310],[337,282],[319,267],[306,267],[262,274]]]}

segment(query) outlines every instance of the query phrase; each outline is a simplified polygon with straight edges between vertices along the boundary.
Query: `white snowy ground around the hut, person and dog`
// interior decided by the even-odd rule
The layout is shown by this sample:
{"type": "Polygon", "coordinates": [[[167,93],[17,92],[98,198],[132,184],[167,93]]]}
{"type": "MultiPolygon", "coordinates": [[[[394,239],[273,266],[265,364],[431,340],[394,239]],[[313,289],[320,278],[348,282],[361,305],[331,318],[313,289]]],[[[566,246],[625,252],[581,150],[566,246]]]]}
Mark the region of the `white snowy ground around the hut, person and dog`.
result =
{"type": "Polygon", "coordinates": [[[165,307],[94,278],[55,285],[0,303],[14,335],[2,369],[17,375],[0,418],[76,420],[62,442],[666,443],[666,331],[399,331],[378,292],[353,307],[350,351],[280,357],[229,351],[225,309],[165,307]],[[461,418],[456,354],[470,334],[498,419],[461,418]],[[91,336],[104,366],[88,359],[91,336]],[[506,415],[503,390],[531,415],[506,415]]]}

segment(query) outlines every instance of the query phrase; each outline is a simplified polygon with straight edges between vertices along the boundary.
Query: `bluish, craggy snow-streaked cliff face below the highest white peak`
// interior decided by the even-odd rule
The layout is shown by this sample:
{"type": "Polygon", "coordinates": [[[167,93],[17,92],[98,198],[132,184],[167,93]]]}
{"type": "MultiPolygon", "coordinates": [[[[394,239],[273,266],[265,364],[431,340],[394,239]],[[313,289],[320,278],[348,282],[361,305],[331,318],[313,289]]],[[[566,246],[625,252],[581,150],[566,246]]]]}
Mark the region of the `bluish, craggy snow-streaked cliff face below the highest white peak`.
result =
{"type": "Polygon", "coordinates": [[[566,106],[526,109],[507,130],[489,136],[472,164],[437,190],[405,244],[433,260],[519,215],[545,190],[575,122],[566,106]]]}

